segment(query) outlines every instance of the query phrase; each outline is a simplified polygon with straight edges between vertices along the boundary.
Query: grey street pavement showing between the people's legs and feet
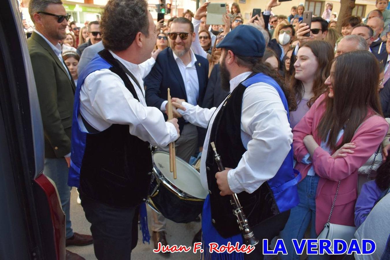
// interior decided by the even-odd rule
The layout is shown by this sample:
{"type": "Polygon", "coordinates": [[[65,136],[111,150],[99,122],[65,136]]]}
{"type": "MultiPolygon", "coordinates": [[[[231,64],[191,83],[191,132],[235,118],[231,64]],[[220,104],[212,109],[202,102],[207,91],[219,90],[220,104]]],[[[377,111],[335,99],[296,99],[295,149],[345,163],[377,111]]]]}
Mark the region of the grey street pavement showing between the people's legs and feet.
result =
{"type": "MultiPolygon", "coordinates": [[[[91,234],[90,232],[90,223],[85,218],[85,214],[83,211],[83,207],[77,203],[77,191],[75,188],[71,191],[71,220],[73,231],[82,234],[91,234]]],[[[148,214],[148,224],[149,224],[149,232],[152,235],[151,230],[151,209],[147,206],[147,214],[148,214]]],[[[173,221],[167,219],[167,241],[170,245],[185,245],[192,246],[193,236],[199,231],[201,224],[196,222],[191,222],[188,224],[178,224],[173,221]]],[[[72,251],[74,253],[83,256],[86,260],[96,260],[94,254],[93,245],[89,246],[68,246],[66,249],[72,251]]],[[[141,259],[141,260],[198,260],[200,259],[200,253],[192,253],[192,251],[188,253],[171,253],[168,256],[164,256],[161,254],[153,253],[153,241],[151,239],[150,244],[142,243],[142,233],[138,230],[138,244],[135,249],[133,249],[131,253],[131,259],[141,259]]]]}

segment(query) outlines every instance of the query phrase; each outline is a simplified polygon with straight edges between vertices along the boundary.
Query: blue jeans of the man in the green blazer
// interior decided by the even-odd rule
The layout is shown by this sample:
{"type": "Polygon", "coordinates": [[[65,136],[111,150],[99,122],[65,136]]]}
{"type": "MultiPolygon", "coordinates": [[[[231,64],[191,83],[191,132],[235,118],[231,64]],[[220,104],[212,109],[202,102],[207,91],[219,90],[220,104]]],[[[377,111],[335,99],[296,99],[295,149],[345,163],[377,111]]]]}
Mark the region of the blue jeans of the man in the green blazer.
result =
{"type": "Polygon", "coordinates": [[[66,239],[73,237],[72,223],[70,219],[71,187],[68,186],[68,164],[65,158],[45,158],[44,175],[49,177],[57,186],[62,210],[66,218],[66,239]]]}

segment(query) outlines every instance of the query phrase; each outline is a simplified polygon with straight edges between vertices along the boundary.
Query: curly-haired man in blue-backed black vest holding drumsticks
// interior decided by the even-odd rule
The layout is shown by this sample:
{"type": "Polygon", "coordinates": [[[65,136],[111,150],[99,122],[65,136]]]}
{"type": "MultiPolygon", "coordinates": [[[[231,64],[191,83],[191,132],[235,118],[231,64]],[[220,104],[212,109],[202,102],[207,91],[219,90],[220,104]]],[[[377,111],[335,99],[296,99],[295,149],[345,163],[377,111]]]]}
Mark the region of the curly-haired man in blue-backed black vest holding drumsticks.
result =
{"type": "Polygon", "coordinates": [[[109,0],[100,29],[105,49],[79,75],[74,97],[69,185],[80,187],[96,258],[121,260],[137,245],[138,210],[146,212],[149,145],[175,141],[179,126],[146,106],[141,86],[150,67],[140,64],[157,36],[146,1],[109,0]]]}

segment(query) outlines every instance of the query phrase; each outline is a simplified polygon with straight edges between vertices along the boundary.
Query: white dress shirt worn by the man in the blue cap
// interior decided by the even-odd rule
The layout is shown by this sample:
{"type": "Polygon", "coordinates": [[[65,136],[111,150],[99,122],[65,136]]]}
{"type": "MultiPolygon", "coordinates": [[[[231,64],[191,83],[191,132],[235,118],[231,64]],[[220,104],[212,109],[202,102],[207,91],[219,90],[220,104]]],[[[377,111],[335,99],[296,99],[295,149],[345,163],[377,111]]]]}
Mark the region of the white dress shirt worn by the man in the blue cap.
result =
{"type": "MultiPolygon", "coordinates": [[[[230,92],[250,73],[239,74],[230,80],[230,92]]],[[[208,190],[206,157],[211,126],[224,103],[222,102],[218,108],[207,109],[183,102],[186,110],[178,110],[191,124],[204,128],[210,126],[207,129],[200,161],[200,179],[206,190],[208,190]]],[[[233,192],[252,193],[263,182],[276,175],[293,143],[287,112],[277,90],[272,86],[255,83],[246,88],[241,108],[241,140],[247,151],[238,166],[228,172],[227,180],[233,192]]]]}

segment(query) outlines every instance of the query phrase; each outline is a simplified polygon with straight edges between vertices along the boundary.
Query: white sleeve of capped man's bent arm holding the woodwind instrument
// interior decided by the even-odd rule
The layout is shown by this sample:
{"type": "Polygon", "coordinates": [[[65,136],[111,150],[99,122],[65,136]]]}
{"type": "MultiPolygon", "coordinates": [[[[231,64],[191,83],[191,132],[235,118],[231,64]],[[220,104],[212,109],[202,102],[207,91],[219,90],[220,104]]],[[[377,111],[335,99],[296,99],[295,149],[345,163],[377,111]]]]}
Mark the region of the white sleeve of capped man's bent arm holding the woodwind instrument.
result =
{"type": "Polygon", "coordinates": [[[293,133],[278,92],[266,83],[245,90],[241,111],[241,130],[252,140],[227,180],[233,192],[252,193],[276,175],[291,149],[293,133]]]}

